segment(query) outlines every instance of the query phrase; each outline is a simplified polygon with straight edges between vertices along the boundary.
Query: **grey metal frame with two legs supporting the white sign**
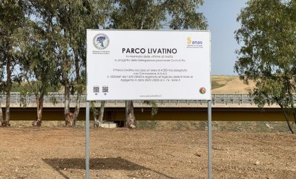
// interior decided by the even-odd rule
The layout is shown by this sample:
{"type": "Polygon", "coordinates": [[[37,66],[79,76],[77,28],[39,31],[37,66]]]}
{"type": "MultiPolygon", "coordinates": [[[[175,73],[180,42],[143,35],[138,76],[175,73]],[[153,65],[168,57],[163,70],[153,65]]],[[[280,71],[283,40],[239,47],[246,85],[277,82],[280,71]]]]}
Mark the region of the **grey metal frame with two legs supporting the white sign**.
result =
{"type": "MultiPolygon", "coordinates": [[[[211,33],[209,39],[209,61],[211,68],[211,33]]],[[[210,69],[211,70],[211,69],[210,69]]],[[[211,79],[211,77],[210,77],[211,79]]],[[[211,86],[211,80],[210,80],[211,86]]],[[[208,100],[208,177],[212,178],[212,111],[211,100],[208,100]]],[[[86,101],[85,119],[85,178],[89,179],[89,101],[86,101]]]]}

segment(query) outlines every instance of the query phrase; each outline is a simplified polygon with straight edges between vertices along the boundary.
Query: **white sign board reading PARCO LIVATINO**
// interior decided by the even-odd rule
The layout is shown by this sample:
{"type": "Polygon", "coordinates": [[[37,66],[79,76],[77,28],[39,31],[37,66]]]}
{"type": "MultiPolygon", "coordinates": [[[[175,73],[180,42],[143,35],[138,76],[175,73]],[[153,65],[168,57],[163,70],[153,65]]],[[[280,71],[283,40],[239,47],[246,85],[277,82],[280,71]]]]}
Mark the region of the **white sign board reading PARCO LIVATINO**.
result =
{"type": "Polygon", "coordinates": [[[211,100],[209,31],[87,30],[87,101],[211,100]]]}

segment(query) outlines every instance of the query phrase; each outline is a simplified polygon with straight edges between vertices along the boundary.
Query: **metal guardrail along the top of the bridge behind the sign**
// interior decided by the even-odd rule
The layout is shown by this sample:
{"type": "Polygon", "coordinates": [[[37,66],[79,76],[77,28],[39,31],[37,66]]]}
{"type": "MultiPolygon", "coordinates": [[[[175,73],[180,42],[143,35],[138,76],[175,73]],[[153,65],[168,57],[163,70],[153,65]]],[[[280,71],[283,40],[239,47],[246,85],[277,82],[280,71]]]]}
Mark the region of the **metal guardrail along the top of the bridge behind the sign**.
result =
{"type": "MultiPolygon", "coordinates": [[[[65,96],[63,93],[48,93],[46,96],[44,96],[44,102],[45,104],[52,104],[53,99],[56,104],[63,104],[65,103],[65,96]]],[[[21,93],[19,92],[13,92],[10,95],[10,103],[16,103],[19,104],[21,102],[32,104],[36,103],[36,98],[34,95],[27,95],[27,96],[21,96],[21,93]]],[[[81,103],[85,103],[86,101],[86,95],[83,94],[81,96],[81,103]]],[[[295,99],[296,102],[296,99],[295,99]]],[[[0,95],[0,103],[6,103],[6,96],[4,94],[0,95]]],[[[70,95],[70,103],[76,103],[76,98],[74,95],[70,95]]],[[[99,103],[99,102],[97,102],[99,103]]],[[[106,101],[106,103],[112,103],[112,104],[120,104],[125,103],[125,101],[106,101]]],[[[134,101],[134,103],[142,104],[143,101],[134,101]]],[[[164,100],[164,101],[158,101],[158,103],[165,104],[165,103],[175,103],[175,104],[192,104],[192,103],[198,103],[198,104],[206,104],[207,101],[203,100],[164,100]]],[[[215,104],[253,104],[254,98],[250,94],[212,94],[212,103],[215,104]]]]}

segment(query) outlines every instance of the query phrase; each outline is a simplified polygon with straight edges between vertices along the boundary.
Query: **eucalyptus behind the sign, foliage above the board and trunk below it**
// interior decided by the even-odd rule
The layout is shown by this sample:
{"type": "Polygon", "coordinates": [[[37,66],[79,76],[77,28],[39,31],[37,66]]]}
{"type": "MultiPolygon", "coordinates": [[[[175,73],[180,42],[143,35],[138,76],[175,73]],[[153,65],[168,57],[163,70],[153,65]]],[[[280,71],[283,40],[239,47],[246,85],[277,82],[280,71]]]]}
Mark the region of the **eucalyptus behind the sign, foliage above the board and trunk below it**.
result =
{"type": "MultiPolygon", "coordinates": [[[[115,1],[109,28],[159,30],[204,30],[207,21],[198,8],[203,0],[126,0],[115,1]]],[[[125,118],[127,127],[136,126],[134,105],[132,101],[125,102],[125,118]]]]}

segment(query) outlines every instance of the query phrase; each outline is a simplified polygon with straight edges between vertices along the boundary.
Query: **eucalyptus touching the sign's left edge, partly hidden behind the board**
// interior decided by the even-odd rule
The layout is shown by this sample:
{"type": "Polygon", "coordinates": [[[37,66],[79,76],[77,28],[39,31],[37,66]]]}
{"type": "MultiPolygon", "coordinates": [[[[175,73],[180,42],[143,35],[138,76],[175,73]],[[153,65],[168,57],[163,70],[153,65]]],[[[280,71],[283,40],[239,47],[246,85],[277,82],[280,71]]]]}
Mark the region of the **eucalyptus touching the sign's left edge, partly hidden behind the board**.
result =
{"type": "Polygon", "coordinates": [[[112,1],[76,1],[66,4],[67,23],[61,23],[70,36],[67,40],[72,50],[72,63],[74,64],[74,92],[76,92],[76,105],[73,115],[73,127],[80,110],[81,94],[85,91],[86,83],[86,30],[99,28],[104,25],[113,6],[112,1]]]}

